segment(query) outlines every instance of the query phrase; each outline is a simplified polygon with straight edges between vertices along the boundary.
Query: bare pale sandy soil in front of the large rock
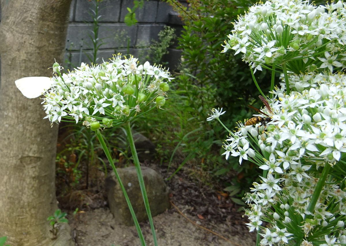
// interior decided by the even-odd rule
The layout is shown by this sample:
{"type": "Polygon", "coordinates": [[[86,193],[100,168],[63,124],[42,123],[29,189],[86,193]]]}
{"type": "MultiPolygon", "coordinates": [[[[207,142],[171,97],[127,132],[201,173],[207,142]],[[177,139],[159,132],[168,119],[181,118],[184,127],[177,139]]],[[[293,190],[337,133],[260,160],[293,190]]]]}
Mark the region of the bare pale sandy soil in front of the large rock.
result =
{"type": "MultiPolygon", "coordinates": [[[[183,207],[181,207],[183,210],[183,207]]],[[[158,245],[164,246],[253,246],[254,237],[246,230],[233,235],[231,229],[224,224],[217,225],[224,240],[208,231],[199,228],[181,216],[175,209],[167,210],[153,218],[158,238],[158,245]],[[229,230],[228,235],[225,231],[229,230]]],[[[117,224],[116,218],[109,209],[98,208],[78,216],[70,217],[70,226],[76,246],[140,246],[134,226],[127,227],[117,224]]],[[[154,245],[149,223],[142,223],[141,228],[147,245],[154,245]]]]}

